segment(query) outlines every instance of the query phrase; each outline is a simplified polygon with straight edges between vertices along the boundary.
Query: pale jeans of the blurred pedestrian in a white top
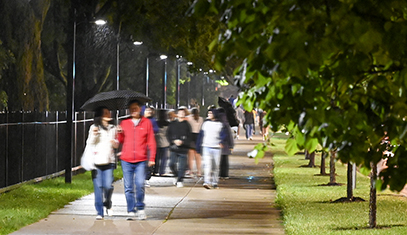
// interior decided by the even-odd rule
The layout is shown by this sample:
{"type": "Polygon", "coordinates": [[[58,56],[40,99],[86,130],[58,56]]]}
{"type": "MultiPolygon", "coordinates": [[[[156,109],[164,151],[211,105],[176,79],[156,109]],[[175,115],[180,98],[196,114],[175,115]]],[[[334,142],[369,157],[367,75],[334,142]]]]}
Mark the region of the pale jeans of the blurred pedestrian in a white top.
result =
{"type": "Polygon", "coordinates": [[[218,185],[220,148],[202,147],[202,158],[204,162],[204,183],[218,185]]]}

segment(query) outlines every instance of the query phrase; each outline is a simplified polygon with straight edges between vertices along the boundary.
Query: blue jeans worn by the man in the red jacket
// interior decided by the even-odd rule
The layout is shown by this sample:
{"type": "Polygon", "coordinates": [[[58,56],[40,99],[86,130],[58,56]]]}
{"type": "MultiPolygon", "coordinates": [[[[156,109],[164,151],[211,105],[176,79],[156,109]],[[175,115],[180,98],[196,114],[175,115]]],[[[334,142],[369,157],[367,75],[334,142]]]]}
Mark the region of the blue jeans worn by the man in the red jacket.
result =
{"type": "Polygon", "coordinates": [[[146,177],[146,162],[130,163],[122,160],[124,194],[127,201],[127,212],[144,210],[144,180],[146,177]],[[134,185],[136,191],[134,192],[134,185]],[[134,197],[136,194],[136,197],[134,197]]]}

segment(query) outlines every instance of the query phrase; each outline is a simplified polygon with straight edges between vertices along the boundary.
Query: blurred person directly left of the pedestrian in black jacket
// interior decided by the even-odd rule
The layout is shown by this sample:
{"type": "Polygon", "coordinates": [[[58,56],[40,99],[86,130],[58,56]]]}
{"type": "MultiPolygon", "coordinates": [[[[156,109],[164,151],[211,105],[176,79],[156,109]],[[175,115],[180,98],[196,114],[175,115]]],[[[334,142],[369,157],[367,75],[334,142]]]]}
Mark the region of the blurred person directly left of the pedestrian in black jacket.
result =
{"type": "Polygon", "coordinates": [[[170,123],[167,121],[167,112],[165,110],[158,111],[157,124],[159,131],[156,134],[157,156],[155,158],[154,174],[164,176],[167,167],[168,147],[170,146],[166,136],[170,123]]]}

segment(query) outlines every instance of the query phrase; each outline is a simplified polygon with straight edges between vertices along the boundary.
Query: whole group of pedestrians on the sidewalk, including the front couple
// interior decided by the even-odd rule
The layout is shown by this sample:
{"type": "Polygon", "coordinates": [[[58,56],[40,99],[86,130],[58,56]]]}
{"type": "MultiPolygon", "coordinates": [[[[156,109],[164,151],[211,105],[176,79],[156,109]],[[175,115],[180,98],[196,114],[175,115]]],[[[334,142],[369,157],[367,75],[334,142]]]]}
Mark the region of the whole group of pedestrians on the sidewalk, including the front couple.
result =
{"type": "Polygon", "coordinates": [[[167,165],[177,187],[184,186],[186,172],[201,179],[202,161],[206,189],[218,188],[219,177],[229,177],[228,155],[234,143],[222,108],[211,106],[205,120],[197,108],[191,115],[186,107],[155,115],[153,107],[143,111],[143,104],[133,100],[128,109],[129,118],[114,126],[109,123],[110,111],[99,107],[89,129],[87,145],[95,146],[92,180],[97,220],[104,218],[104,207],[107,215],[112,214],[114,149],[119,147],[128,220],[147,218],[145,187],[150,186],[151,176],[167,176],[167,165]]]}

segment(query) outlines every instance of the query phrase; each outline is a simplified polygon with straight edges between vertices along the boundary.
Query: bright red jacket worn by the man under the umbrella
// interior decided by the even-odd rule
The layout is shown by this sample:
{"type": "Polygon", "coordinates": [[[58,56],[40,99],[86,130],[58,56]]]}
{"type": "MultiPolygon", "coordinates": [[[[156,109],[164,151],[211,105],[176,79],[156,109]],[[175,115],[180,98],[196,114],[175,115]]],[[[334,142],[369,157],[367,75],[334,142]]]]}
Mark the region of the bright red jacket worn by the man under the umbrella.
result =
{"type": "Polygon", "coordinates": [[[134,125],[131,118],[120,123],[122,132],[118,133],[117,139],[123,144],[120,159],[126,162],[135,163],[147,160],[147,148],[150,159],[154,162],[156,153],[156,143],[151,121],[141,117],[140,122],[134,125]]]}

